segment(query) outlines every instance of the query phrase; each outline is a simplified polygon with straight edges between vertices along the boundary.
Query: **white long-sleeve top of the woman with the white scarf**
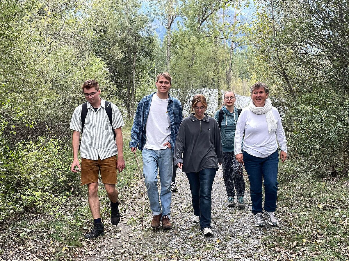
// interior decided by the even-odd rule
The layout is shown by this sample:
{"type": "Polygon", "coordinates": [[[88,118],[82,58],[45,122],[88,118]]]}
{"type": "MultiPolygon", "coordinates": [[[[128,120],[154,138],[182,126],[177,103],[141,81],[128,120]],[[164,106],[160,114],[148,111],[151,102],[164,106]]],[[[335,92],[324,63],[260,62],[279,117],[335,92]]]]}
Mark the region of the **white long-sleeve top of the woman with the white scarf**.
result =
{"type": "Polygon", "coordinates": [[[256,114],[248,107],[242,110],[236,124],[235,155],[242,153],[241,141],[244,131],[243,150],[252,156],[259,158],[270,156],[277,150],[277,142],[280,144],[280,149],[287,152],[286,136],[281,124],[280,113],[275,107],[272,107],[272,112],[276,120],[277,129],[268,133],[265,114],[256,114]]]}

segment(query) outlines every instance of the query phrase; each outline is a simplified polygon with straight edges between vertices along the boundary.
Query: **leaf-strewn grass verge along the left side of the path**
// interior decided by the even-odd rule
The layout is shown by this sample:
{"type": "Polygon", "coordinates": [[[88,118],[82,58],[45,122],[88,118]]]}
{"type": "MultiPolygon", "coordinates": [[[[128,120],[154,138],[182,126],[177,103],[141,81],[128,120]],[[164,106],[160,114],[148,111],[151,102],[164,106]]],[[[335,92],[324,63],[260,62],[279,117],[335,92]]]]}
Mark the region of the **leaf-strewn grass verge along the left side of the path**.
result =
{"type": "MultiPolygon", "coordinates": [[[[131,152],[128,146],[131,139],[131,127],[132,124],[127,123],[122,130],[126,167],[118,175],[117,188],[119,190],[119,201],[125,200],[122,191],[133,187],[134,183],[141,178],[134,153],[131,152]]],[[[137,151],[136,155],[140,168],[142,168],[141,152],[137,151]]],[[[80,183],[79,175],[76,176],[76,183],[80,183]]],[[[102,220],[109,219],[110,200],[101,181],[99,182],[98,197],[101,201],[102,220]]],[[[54,202],[57,204],[51,210],[42,211],[41,213],[24,213],[20,219],[12,220],[1,227],[3,232],[0,243],[0,259],[2,255],[13,255],[11,254],[13,252],[9,252],[10,249],[8,246],[11,246],[13,250],[15,248],[18,250],[18,247],[22,247],[22,257],[24,258],[26,255],[25,252],[28,251],[27,249],[33,245],[35,247],[30,252],[34,255],[37,253],[39,256],[42,251],[46,250],[36,249],[36,246],[39,245],[37,244],[37,240],[49,240],[47,249],[49,249],[48,253],[50,254],[50,258],[53,258],[52,260],[74,259],[72,257],[75,253],[74,248],[86,244],[83,234],[90,229],[89,227],[92,222],[88,205],[87,186],[78,185],[69,195],[66,193],[56,195],[54,202]],[[62,251],[63,249],[64,251],[62,251]]],[[[122,206],[120,207],[120,211],[122,211],[122,206]]],[[[46,244],[44,243],[40,246],[45,248],[46,244]]],[[[21,258],[21,254],[16,255],[16,258],[21,258]]]]}

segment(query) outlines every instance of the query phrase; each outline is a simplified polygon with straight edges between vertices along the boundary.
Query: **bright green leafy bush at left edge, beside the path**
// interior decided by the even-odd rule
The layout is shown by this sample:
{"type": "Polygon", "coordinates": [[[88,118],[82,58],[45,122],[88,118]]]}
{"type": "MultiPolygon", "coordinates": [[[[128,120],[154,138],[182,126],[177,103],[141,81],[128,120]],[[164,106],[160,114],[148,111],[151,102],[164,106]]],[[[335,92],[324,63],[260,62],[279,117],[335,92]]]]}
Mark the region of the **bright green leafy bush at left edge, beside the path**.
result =
{"type": "Polygon", "coordinates": [[[19,142],[14,151],[3,147],[0,222],[23,211],[51,212],[66,200],[78,184],[69,150],[65,141],[45,137],[19,142]]]}

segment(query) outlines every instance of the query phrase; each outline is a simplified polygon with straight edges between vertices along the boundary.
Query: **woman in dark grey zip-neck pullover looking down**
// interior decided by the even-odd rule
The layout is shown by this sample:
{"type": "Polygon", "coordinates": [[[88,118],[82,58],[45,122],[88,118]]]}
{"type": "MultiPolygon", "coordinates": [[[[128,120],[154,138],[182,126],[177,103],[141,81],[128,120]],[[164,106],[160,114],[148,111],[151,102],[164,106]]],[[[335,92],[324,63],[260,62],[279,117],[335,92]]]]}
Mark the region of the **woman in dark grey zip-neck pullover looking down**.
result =
{"type": "Polygon", "coordinates": [[[205,96],[197,94],[192,101],[192,111],[179,129],[174,147],[174,165],[178,165],[188,177],[192,193],[193,222],[200,221],[204,236],[213,235],[211,230],[212,184],[223,162],[221,132],[217,121],[205,111],[205,96]],[[183,157],[182,157],[183,153],[183,157]]]}

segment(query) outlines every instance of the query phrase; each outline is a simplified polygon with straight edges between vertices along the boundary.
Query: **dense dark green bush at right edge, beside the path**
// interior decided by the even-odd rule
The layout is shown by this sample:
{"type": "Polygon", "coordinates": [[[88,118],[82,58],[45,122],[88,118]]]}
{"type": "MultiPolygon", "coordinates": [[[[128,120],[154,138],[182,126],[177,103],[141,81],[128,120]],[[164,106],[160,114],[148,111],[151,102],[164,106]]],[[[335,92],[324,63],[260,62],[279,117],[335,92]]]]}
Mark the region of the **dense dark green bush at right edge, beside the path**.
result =
{"type": "Polygon", "coordinates": [[[324,90],[301,97],[296,110],[290,111],[293,130],[289,147],[296,158],[310,161],[311,172],[318,175],[349,173],[349,101],[340,94],[324,90]],[[314,98],[320,101],[314,101],[314,98]]]}

